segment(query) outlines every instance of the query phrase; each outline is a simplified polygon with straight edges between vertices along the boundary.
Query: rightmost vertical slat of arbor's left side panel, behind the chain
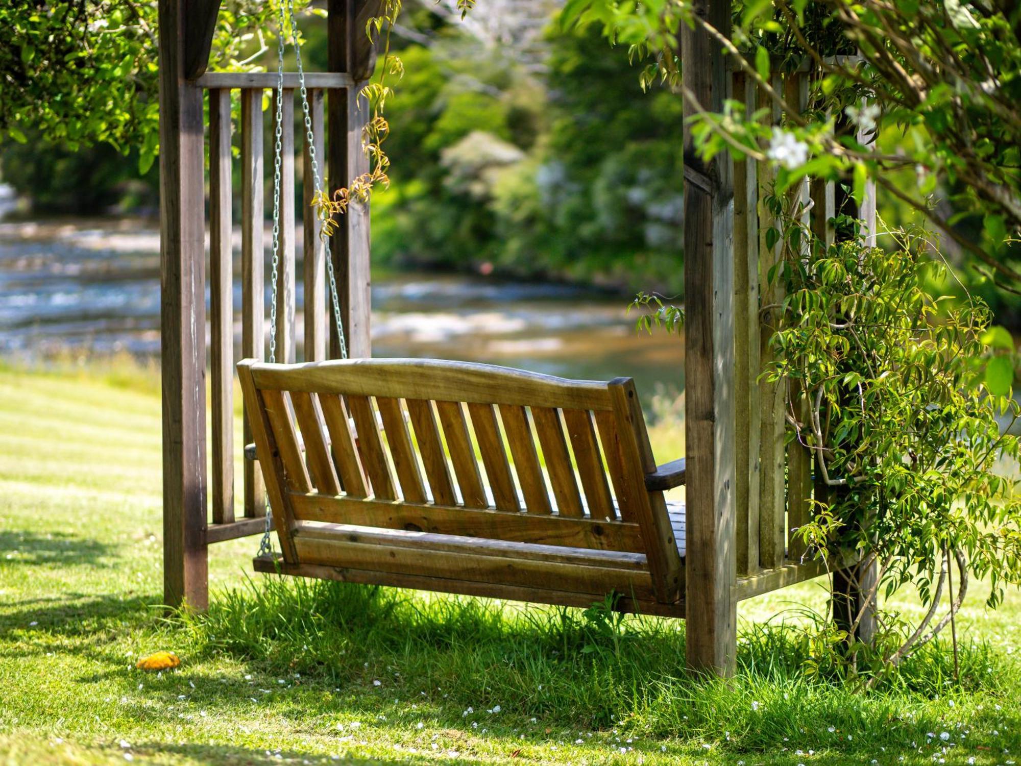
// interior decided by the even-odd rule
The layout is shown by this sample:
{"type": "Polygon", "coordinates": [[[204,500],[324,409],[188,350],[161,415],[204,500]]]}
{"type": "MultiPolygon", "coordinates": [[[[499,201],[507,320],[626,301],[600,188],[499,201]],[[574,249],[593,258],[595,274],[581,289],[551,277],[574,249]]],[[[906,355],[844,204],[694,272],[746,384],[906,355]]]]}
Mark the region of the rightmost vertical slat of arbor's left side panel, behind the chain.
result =
{"type": "MultiPolygon", "coordinates": [[[[322,181],[326,169],[324,156],[323,91],[308,91],[308,113],[314,137],[315,164],[322,181]]],[[[327,347],[327,295],[326,286],[326,240],[321,235],[323,226],[312,208],[315,195],[315,174],[312,172],[311,156],[308,153],[308,137],[305,137],[303,157],[302,192],[304,205],[301,212],[304,231],[304,319],[305,319],[305,361],[319,362],[326,358],[327,347]]]]}

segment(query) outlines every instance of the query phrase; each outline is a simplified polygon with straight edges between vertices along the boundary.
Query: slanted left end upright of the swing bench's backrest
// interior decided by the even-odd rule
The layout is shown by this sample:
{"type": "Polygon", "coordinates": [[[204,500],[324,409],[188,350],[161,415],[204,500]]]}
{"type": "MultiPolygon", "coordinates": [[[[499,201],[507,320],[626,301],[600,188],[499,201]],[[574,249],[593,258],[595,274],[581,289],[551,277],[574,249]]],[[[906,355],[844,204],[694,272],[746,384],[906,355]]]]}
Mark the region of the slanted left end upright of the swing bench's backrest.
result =
{"type": "MultiPolygon", "coordinates": [[[[251,365],[252,363],[248,361],[239,364],[238,378],[241,381],[241,391],[245,397],[245,403],[248,404],[248,412],[252,415],[252,436],[255,439],[255,449],[258,453],[259,465],[265,476],[266,494],[270,496],[270,501],[273,505],[273,524],[280,538],[280,546],[283,550],[284,559],[288,562],[295,562],[297,556],[294,550],[294,538],[291,536],[291,531],[294,528],[294,517],[291,513],[290,497],[284,491],[284,463],[281,450],[278,448],[274,437],[274,429],[269,417],[264,394],[269,394],[271,400],[274,401],[274,406],[278,409],[278,412],[282,412],[285,420],[287,420],[284,397],[279,391],[259,391],[255,387],[254,380],[252,380],[251,365]]],[[[296,444],[294,443],[293,430],[291,432],[291,448],[295,449],[296,444]]],[[[298,456],[298,464],[301,465],[303,470],[304,465],[301,464],[300,454],[298,456]]]]}

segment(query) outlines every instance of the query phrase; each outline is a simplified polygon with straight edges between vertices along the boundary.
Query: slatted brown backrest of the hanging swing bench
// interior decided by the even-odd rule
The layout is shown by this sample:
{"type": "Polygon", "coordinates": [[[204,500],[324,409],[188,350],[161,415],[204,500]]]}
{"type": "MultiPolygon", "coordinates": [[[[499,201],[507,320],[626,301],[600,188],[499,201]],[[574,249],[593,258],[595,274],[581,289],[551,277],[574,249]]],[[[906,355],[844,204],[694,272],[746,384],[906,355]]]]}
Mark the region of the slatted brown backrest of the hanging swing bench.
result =
{"type": "Polygon", "coordinates": [[[642,553],[658,592],[676,592],[630,378],[402,358],[238,372],[285,559],[296,523],[334,522],[642,553]]]}

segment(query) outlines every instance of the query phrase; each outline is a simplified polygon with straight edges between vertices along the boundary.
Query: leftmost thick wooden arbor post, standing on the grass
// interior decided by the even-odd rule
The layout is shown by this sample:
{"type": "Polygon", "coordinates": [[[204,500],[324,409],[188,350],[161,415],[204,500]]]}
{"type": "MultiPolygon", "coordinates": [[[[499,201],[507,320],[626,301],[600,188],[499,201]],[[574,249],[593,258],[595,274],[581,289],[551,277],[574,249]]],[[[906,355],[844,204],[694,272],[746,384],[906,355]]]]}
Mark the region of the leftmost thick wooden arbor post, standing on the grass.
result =
{"type": "Polygon", "coordinates": [[[205,242],[202,91],[188,82],[184,0],[159,0],[163,600],[205,609],[205,242]]]}

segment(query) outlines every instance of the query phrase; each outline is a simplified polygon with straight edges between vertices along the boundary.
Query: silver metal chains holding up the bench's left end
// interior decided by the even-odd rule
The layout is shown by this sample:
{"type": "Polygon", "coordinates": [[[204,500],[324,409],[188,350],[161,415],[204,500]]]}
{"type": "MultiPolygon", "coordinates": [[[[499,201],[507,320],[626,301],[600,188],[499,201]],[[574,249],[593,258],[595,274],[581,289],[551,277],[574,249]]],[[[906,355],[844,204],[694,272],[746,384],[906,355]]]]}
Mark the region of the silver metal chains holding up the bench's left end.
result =
{"type": "MultiPolygon", "coordinates": [[[[275,143],[273,147],[273,299],[270,303],[270,362],[277,361],[277,294],[279,290],[280,271],[280,194],[281,194],[281,157],[283,154],[284,135],[284,33],[287,28],[287,16],[291,17],[291,39],[294,41],[294,57],[298,66],[298,84],[301,87],[301,111],[305,122],[305,147],[308,150],[309,164],[312,169],[312,182],[315,194],[323,192],[323,181],[319,172],[319,158],[315,156],[315,136],[312,134],[312,117],[308,107],[308,90],[305,87],[305,70],[301,62],[301,43],[298,42],[298,26],[294,18],[294,0],[287,0],[285,8],[283,0],[280,3],[280,34],[277,39],[277,113],[275,119],[275,143]]],[[[309,211],[305,211],[309,214],[309,211]]],[[[337,278],[333,269],[333,256],[330,251],[330,240],[325,240],[326,269],[330,278],[330,297],[333,303],[333,319],[337,325],[337,341],[340,345],[340,357],[347,358],[347,340],[344,337],[344,324],[340,317],[340,294],[337,291],[337,278]]],[[[265,529],[259,541],[257,556],[273,556],[273,508],[270,498],[265,499],[265,529]]]]}

